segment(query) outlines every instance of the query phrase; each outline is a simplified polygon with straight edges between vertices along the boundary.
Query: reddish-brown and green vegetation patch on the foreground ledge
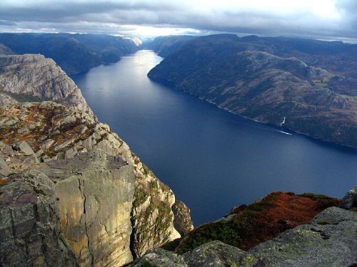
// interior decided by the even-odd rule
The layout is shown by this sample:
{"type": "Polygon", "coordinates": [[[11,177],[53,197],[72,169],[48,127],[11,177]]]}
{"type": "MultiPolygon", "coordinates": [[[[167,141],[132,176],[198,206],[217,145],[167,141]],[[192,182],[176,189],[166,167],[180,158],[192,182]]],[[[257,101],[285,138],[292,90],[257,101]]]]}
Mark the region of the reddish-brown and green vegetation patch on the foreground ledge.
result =
{"type": "Polygon", "coordinates": [[[261,201],[236,207],[226,219],[193,229],[168,248],[184,253],[208,241],[221,240],[248,250],[286,229],[308,223],[318,212],[338,203],[338,199],[318,194],[273,192],[261,201]]]}

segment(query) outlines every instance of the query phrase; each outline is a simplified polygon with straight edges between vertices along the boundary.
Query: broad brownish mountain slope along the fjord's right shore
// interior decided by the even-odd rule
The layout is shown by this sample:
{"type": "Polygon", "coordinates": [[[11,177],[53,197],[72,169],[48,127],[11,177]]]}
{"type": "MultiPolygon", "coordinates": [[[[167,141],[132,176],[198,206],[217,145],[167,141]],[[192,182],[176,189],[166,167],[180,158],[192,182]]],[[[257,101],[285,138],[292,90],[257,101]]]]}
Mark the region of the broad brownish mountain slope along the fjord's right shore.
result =
{"type": "Polygon", "coordinates": [[[203,36],[148,76],[251,120],[357,147],[355,51],[339,42],[203,36]]]}

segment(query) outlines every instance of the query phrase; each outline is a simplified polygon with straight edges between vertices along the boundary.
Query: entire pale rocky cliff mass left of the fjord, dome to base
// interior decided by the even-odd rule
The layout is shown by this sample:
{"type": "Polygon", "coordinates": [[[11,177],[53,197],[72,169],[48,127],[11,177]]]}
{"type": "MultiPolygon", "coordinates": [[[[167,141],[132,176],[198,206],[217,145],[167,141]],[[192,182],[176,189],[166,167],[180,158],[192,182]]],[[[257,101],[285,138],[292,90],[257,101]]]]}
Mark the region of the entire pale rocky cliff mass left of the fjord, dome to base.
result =
{"type": "Polygon", "coordinates": [[[0,62],[0,266],[122,266],[191,229],[53,60],[0,62]]]}

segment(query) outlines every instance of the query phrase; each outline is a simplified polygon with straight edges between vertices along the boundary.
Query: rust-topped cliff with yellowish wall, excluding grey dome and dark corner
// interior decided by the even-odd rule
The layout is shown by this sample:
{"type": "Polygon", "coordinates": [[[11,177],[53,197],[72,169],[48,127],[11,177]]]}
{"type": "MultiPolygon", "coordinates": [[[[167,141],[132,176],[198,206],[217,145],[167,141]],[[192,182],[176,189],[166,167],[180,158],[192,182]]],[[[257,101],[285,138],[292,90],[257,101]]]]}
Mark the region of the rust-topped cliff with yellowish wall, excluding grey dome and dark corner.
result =
{"type": "Polygon", "coordinates": [[[79,266],[121,266],[180,237],[171,189],[87,112],[54,102],[4,105],[0,130],[1,181],[31,169],[51,180],[79,266]]]}

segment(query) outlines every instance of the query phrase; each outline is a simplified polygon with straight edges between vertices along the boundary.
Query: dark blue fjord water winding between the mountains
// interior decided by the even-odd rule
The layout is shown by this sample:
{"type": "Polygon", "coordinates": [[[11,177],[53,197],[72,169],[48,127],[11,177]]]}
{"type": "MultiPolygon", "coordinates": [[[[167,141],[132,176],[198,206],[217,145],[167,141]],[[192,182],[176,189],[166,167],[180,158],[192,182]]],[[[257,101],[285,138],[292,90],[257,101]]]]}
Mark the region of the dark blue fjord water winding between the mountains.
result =
{"type": "Polygon", "coordinates": [[[195,226],[272,191],[343,197],[357,152],[245,120],[146,74],[162,58],[139,51],[74,78],[99,119],[191,209],[195,226]]]}

